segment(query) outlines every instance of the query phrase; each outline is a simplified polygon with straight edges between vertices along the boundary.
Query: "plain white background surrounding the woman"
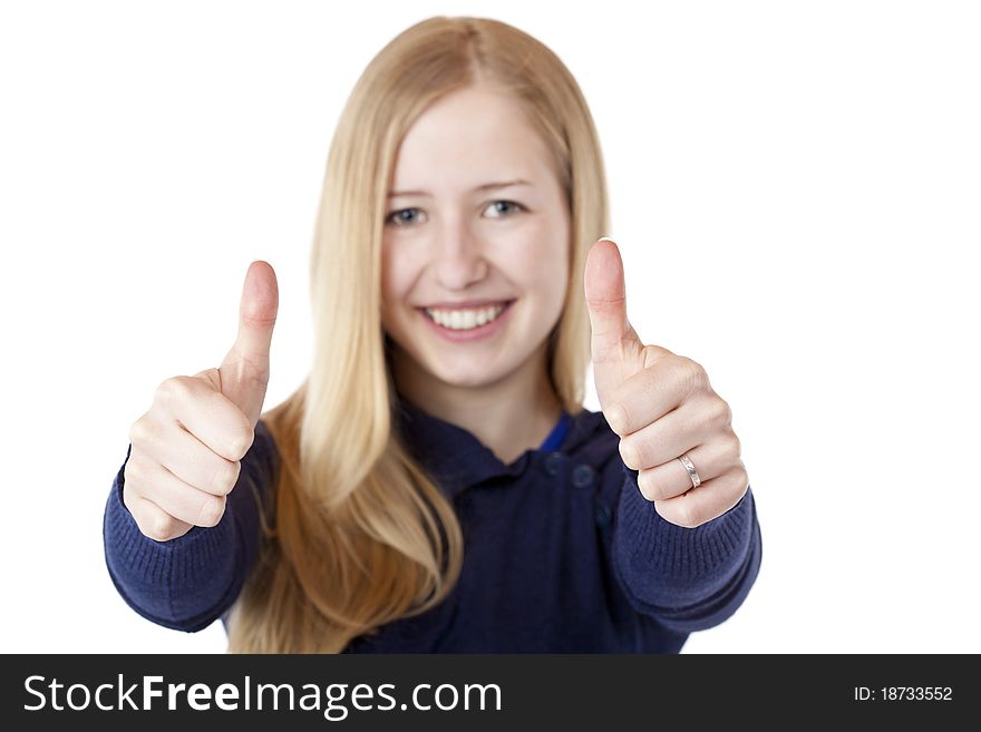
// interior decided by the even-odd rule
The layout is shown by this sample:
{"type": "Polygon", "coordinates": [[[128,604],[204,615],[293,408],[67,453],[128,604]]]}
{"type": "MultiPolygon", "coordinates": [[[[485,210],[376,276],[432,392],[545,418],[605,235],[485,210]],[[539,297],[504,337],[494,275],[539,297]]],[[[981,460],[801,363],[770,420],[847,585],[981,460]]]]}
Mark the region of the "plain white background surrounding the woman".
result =
{"type": "Polygon", "coordinates": [[[734,409],[763,567],[684,652],[981,652],[978,6],[613,0],[0,6],[0,650],[224,651],[109,580],[128,429],[221,362],[253,258],[280,283],[266,404],[300,383],[338,115],[434,14],[569,66],[629,316],[734,409]]]}

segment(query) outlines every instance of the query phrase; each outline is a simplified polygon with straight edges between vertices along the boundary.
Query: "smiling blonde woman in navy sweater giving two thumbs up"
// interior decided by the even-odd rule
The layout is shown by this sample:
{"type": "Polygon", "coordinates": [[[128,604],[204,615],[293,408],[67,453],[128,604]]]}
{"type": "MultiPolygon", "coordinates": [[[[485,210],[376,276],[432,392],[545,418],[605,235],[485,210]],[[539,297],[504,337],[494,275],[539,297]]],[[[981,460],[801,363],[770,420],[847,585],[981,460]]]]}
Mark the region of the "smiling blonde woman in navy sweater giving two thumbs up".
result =
{"type": "Polygon", "coordinates": [[[260,417],[278,292],[253,263],[222,367],[130,430],[120,594],[221,616],[232,652],[678,652],[729,617],[761,540],[728,406],[637,338],[605,231],[557,57],[492,20],[404,31],[331,146],[309,378],[260,417]]]}

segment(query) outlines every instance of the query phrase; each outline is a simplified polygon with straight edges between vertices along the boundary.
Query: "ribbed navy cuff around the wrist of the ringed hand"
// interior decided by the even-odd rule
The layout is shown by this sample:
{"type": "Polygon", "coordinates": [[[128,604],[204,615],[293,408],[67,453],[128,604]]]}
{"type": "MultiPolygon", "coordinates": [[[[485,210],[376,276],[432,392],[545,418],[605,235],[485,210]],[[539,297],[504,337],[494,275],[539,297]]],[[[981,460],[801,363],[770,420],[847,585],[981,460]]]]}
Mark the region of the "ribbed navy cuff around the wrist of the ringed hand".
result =
{"type": "Polygon", "coordinates": [[[755,525],[751,489],[721,516],[686,528],[662,518],[643,497],[637,470],[624,465],[623,471],[613,550],[628,593],[645,607],[681,609],[725,592],[747,565],[755,525]]]}

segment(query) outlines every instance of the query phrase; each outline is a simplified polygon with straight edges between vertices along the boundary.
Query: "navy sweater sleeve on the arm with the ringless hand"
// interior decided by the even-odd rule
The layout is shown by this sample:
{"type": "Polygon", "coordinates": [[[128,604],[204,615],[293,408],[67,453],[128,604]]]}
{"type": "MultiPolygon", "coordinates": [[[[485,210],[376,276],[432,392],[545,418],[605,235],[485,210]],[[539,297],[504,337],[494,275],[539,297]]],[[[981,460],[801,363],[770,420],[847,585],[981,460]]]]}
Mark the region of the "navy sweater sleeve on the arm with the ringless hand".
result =
{"type": "Polygon", "coordinates": [[[222,519],[212,527],[194,526],[169,541],[144,535],[123,502],[132,449],[130,445],[113,481],[103,520],[109,576],[123,599],[148,621],[176,631],[201,631],[233,605],[259,555],[261,514],[246,478],[254,479],[268,505],[278,462],[272,437],[260,420],[222,519]]]}

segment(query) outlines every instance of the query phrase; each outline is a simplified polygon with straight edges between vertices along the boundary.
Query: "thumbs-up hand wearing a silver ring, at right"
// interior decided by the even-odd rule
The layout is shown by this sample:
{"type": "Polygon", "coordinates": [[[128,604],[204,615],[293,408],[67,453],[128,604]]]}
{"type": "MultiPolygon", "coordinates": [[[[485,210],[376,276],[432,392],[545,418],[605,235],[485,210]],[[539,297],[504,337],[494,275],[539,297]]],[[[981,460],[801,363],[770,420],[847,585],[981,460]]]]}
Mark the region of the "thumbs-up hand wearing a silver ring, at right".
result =
{"type": "Polygon", "coordinates": [[[749,487],[729,404],[701,365],[641,342],[627,320],[623,262],[611,240],[590,248],[583,284],[600,407],[641,494],[678,526],[721,516],[749,487]]]}

